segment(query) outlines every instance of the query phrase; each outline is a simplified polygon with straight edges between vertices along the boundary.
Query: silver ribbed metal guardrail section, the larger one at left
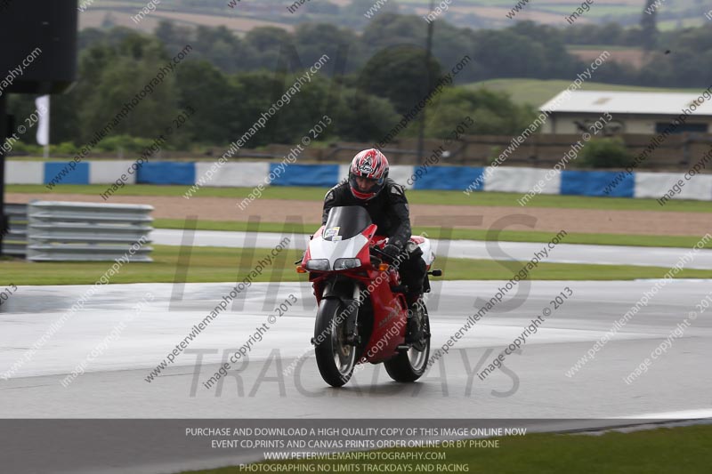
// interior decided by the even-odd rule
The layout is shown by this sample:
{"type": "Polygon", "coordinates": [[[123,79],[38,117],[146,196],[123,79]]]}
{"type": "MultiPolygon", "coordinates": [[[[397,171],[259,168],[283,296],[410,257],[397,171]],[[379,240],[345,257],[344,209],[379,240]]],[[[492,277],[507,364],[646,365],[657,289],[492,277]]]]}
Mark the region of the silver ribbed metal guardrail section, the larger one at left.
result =
{"type": "MultiPolygon", "coordinates": [[[[151,205],[33,201],[27,205],[29,261],[152,261],[151,205]]],[[[12,225],[11,225],[12,229],[12,225]]]]}

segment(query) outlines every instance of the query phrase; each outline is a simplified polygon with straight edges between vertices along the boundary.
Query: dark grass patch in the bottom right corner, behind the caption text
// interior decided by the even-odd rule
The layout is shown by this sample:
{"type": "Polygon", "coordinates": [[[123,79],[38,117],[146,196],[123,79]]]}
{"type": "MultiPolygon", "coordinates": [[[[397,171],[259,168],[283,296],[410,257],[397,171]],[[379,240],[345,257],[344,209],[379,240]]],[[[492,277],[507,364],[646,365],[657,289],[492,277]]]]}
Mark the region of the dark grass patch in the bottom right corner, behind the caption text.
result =
{"type": "MultiPolygon", "coordinates": [[[[493,474],[546,473],[568,474],[702,474],[709,472],[709,446],[712,426],[640,430],[631,433],[607,432],[600,436],[535,433],[523,437],[498,438],[498,447],[392,449],[384,452],[444,453],[444,461],[289,461],[269,462],[263,470],[238,466],[215,470],[194,470],[190,474],[228,474],[234,472],[308,472],[309,466],[322,466],[313,472],[488,472],[493,474]],[[368,470],[368,466],[392,469],[368,470]],[[324,468],[323,466],[329,466],[324,468]],[[448,470],[463,466],[462,470],[448,470]],[[271,470],[270,470],[271,468],[271,470]],[[305,469],[306,468],[306,469],[305,469]],[[445,469],[443,469],[445,468],[445,469]],[[465,470],[466,469],[466,470],[465,470]]],[[[184,472],[183,474],[189,474],[184,472]]]]}

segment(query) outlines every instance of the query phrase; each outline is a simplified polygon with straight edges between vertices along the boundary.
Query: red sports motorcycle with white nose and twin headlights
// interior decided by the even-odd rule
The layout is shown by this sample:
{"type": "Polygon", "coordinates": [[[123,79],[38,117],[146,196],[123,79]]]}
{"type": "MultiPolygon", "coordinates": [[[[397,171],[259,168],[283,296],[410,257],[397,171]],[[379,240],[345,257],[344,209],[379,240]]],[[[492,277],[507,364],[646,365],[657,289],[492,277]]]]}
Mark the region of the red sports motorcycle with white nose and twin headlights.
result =
{"type": "Polygon", "coordinates": [[[427,274],[424,293],[430,292],[428,276],[435,255],[425,237],[411,237],[407,252],[395,260],[383,253],[386,238],[376,236],[366,209],[334,207],[327,223],[309,242],[298,273],[309,274],[318,307],[312,344],[321,377],[333,387],[348,382],[354,367],[384,363],[397,382],[415,382],[427,367],[430,322],[425,302],[415,310],[406,301],[408,287],[401,284],[398,264],[408,253],[420,253],[427,274]],[[415,318],[422,337],[405,342],[408,317],[415,318]]]}

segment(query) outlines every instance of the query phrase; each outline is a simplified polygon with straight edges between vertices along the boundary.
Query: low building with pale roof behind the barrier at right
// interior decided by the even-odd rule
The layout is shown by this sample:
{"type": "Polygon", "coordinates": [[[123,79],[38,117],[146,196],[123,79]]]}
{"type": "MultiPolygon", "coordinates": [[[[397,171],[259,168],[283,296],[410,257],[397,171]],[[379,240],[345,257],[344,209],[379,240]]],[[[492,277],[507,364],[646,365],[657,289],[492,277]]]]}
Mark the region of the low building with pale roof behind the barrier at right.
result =
{"type": "Polygon", "coordinates": [[[541,133],[583,133],[602,114],[613,119],[606,134],[662,133],[684,116],[673,133],[712,133],[712,93],[563,91],[540,107],[549,114],[541,133]],[[568,95],[568,98],[566,97],[568,95]],[[556,104],[559,104],[558,106],[556,104]]]}

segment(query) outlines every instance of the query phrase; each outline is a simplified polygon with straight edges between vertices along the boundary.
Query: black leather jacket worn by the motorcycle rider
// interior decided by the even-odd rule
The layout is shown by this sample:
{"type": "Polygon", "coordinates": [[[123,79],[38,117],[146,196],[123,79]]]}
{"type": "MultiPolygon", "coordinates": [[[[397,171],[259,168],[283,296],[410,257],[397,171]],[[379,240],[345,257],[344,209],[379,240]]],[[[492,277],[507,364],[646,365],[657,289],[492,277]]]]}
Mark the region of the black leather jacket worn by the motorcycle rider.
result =
{"type": "Polygon", "coordinates": [[[385,180],[384,189],[368,201],[362,201],[351,193],[348,181],[329,189],[324,197],[324,213],[321,224],[327,223],[328,211],[341,205],[365,207],[378,230],[377,235],[389,237],[389,242],[403,248],[410,239],[410,215],[405,189],[390,178],[385,180]]]}

